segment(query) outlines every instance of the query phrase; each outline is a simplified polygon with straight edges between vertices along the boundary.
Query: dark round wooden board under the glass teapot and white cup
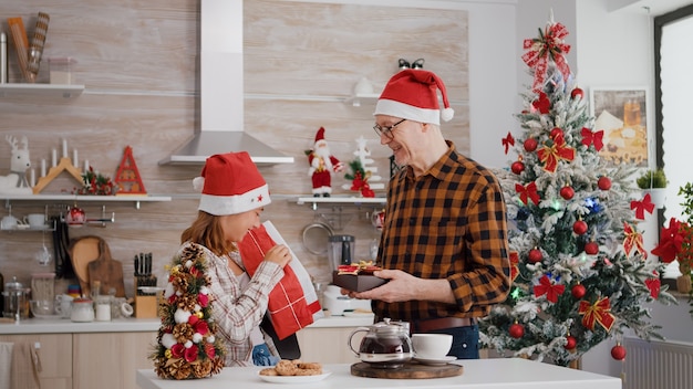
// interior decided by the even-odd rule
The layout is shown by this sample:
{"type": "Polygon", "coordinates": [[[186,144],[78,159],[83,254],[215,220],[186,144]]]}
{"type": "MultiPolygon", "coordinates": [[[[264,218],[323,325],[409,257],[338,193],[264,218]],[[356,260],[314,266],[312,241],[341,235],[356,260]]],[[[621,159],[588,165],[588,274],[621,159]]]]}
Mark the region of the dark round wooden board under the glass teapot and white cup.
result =
{"type": "Polygon", "coordinates": [[[444,378],[462,376],[464,367],[454,364],[446,365],[423,365],[417,362],[404,364],[401,368],[386,369],[373,367],[371,364],[359,362],[351,365],[351,375],[369,378],[391,378],[391,379],[422,379],[422,378],[444,378]]]}

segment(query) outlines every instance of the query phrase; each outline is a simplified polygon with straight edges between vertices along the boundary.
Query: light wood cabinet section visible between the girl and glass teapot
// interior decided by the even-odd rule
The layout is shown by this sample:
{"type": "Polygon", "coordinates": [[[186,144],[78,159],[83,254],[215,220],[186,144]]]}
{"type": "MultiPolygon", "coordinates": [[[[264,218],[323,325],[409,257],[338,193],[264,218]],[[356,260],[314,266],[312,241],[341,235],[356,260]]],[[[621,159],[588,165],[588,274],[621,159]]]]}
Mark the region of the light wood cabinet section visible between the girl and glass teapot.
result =
{"type": "MultiPolygon", "coordinates": [[[[319,361],[321,364],[354,364],[360,361],[349,348],[349,335],[355,328],[329,327],[303,328],[297,333],[301,347],[301,360],[319,361]]],[[[365,333],[355,334],[353,345],[359,349],[365,333]]]]}

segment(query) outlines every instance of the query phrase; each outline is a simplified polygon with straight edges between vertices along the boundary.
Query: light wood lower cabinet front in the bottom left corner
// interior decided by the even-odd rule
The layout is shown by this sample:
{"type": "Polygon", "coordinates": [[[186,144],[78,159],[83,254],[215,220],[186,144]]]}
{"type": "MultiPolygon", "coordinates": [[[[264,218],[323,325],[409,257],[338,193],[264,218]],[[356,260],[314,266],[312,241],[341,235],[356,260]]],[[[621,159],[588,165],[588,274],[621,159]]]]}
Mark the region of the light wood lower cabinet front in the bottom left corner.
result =
{"type": "Polygon", "coordinates": [[[25,344],[30,347],[38,346],[41,387],[72,388],[72,334],[0,335],[0,341],[11,341],[14,347],[25,344]]]}

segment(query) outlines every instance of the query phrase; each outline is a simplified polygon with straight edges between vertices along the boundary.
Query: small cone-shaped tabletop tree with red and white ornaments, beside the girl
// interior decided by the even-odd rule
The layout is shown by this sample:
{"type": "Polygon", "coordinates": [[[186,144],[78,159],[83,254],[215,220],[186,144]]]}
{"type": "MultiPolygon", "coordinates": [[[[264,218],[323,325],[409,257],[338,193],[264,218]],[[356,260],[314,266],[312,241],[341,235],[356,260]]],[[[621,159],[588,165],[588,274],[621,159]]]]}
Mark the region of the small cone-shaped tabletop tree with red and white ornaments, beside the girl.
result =
{"type": "Polygon", "coordinates": [[[224,368],[225,349],[211,318],[206,255],[189,245],[174,257],[159,304],[162,325],[151,359],[156,375],[167,379],[205,378],[224,368]]]}

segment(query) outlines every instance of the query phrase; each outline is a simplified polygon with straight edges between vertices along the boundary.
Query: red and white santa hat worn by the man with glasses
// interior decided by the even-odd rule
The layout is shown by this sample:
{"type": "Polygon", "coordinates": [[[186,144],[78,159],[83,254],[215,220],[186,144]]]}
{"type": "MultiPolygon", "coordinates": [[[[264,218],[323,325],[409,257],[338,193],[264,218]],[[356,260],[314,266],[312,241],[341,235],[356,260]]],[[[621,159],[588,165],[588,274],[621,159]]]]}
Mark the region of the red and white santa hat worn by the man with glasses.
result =
{"type": "Polygon", "coordinates": [[[421,123],[441,124],[455,115],[447,101],[445,84],[435,73],[407,69],[393,75],[377,99],[373,115],[387,115],[421,123]],[[445,109],[441,112],[438,94],[441,91],[445,109]]]}

